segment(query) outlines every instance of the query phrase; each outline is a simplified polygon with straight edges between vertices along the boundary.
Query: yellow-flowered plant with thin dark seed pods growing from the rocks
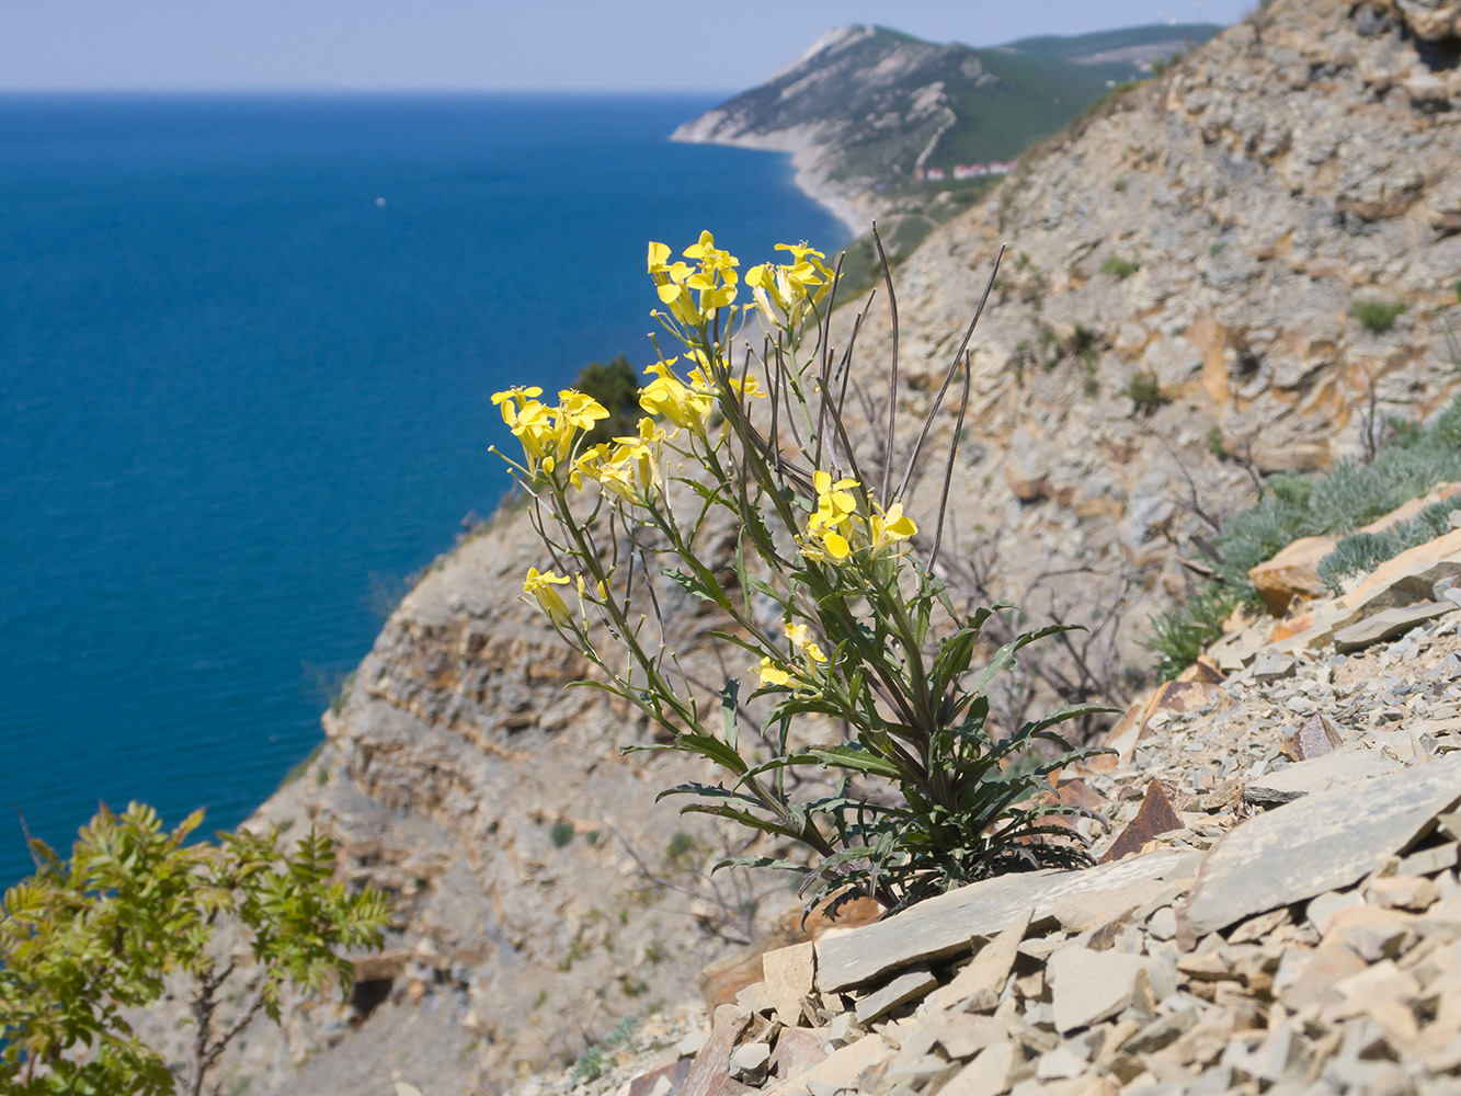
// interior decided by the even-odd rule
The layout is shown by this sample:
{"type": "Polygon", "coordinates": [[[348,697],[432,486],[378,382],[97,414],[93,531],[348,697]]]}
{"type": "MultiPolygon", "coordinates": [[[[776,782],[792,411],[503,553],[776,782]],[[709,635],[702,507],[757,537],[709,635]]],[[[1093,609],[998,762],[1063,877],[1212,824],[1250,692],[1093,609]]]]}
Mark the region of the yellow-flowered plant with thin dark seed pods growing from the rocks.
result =
{"type": "Polygon", "coordinates": [[[834,358],[837,272],[806,244],[777,248],[787,262],[757,266],[742,283],[739,260],[710,232],[682,259],[649,246],[662,304],[652,314],[676,354],[660,352],[646,370],[647,416],[634,435],[586,444],[583,431],[608,412],[573,390],[555,406],[538,387],[492,397],[522,443],[522,459],[508,463],[533,500],[551,558],[549,570],[527,573],[524,595],[600,671],[602,680],[581,684],[674,732],[666,745],[638,748],[698,754],[723,773],[719,783],[662,795],[691,795],[685,811],[801,846],[790,859],[728,862],[804,872],[808,907],[868,894],[894,909],[998,871],[1083,864],[1084,846],[1049,815],[1086,813],[1033,796],[1046,775],[1091,753],[1072,750],[1052,728],[1106,709],[1068,704],[996,737],[985,688],[1014,666],[1020,647],[1056,628],[1017,637],[974,671],[985,621],[1008,606],[961,612],[937,577],[963,406],[931,545],[901,503],[979,314],[894,487],[891,279],[888,422],[877,453],[859,460],[843,408],[862,317],[834,358]],[[736,302],[742,288],[752,304],[736,302]],[[735,340],[755,320],[763,349],[745,345],[738,368],[735,340]],[[733,551],[717,554],[733,560],[704,558],[713,532],[726,528],[733,551]],[[745,672],[725,682],[717,704],[704,690],[697,696],[665,647],[657,574],[712,604],[723,620],[713,634],[744,652],[745,672]],[[576,595],[574,606],[565,593],[576,595]],[[603,644],[605,631],[622,662],[603,644]],[[745,699],[742,678],[752,684],[745,699]],[[768,719],[747,735],[747,703],[755,699],[768,719]],[[821,718],[817,725],[836,741],[805,741],[793,732],[802,718],[821,718]],[[1040,739],[1058,754],[1036,754],[1040,739]],[[802,782],[787,777],[808,767],[830,770],[834,788],[798,798],[802,782]]]}

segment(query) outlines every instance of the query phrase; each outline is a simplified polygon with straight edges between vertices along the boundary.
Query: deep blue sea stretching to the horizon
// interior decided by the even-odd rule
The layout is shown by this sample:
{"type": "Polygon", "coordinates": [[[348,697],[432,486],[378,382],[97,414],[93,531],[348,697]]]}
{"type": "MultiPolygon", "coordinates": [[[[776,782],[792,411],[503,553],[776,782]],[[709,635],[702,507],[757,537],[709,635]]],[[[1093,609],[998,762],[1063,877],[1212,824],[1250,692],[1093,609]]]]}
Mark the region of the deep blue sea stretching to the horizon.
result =
{"type": "Polygon", "coordinates": [[[0,96],[0,884],[16,811],[273,792],[506,491],[489,395],[652,359],[649,240],[846,241],[665,139],[714,101],[0,96]]]}

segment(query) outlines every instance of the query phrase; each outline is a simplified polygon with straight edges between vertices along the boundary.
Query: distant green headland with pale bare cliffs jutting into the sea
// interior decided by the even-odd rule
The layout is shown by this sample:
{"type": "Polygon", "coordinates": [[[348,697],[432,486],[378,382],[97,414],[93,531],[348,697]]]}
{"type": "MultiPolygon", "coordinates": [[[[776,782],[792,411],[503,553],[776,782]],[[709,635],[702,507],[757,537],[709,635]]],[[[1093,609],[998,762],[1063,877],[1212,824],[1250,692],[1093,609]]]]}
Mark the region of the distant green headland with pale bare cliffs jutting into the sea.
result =
{"type": "Polygon", "coordinates": [[[798,181],[862,232],[874,216],[918,203],[926,168],[1012,159],[1112,86],[1218,29],[1137,26],[976,50],[840,26],[672,137],[790,152],[798,181]]]}

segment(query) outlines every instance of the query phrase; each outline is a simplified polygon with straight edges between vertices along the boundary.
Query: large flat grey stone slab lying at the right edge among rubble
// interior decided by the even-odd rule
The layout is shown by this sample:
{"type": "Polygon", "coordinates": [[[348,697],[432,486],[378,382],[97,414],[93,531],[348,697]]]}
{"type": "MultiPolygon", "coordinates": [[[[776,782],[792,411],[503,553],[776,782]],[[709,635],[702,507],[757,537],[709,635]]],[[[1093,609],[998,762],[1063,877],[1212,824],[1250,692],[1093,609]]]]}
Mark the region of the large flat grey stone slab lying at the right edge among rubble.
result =
{"type": "Polygon", "coordinates": [[[1376,776],[1360,789],[1277,807],[1232,830],[1207,853],[1182,912],[1186,926],[1202,935],[1347,887],[1404,852],[1458,801],[1461,753],[1452,753],[1376,776]]]}

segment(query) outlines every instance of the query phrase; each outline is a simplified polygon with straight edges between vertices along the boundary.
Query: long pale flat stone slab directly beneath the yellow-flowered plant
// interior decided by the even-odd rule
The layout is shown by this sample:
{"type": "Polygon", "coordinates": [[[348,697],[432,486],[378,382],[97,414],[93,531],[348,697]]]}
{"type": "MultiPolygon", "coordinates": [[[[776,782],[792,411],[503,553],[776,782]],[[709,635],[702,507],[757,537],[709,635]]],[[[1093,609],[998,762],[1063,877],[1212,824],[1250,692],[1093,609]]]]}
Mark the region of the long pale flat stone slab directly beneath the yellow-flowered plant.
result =
{"type": "Polygon", "coordinates": [[[817,941],[817,988],[836,992],[913,963],[972,951],[973,937],[993,935],[1029,910],[1034,910],[1034,921],[1049,918],[1077,894],[1191,878],[1201,858],[1198,852],[1150,852],[1084,871],[1026,871],[972,883],[855,932],[817,941]]]}

